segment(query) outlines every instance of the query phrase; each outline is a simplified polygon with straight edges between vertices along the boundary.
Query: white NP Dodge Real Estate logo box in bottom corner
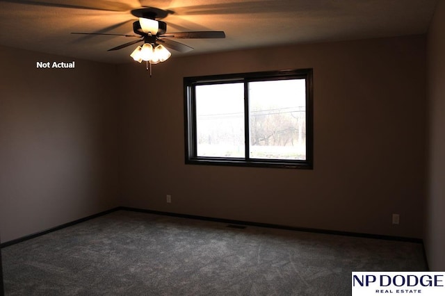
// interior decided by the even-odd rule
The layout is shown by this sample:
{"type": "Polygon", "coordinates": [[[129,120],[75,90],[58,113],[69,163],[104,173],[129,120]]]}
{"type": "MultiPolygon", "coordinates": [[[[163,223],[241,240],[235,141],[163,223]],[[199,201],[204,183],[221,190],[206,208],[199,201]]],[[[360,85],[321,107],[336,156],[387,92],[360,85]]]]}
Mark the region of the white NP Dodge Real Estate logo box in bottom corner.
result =
{"type": "Polygon", "coordinates": [[[353,296],[445,295],[445,272],[353,272],[353,296]]]}

